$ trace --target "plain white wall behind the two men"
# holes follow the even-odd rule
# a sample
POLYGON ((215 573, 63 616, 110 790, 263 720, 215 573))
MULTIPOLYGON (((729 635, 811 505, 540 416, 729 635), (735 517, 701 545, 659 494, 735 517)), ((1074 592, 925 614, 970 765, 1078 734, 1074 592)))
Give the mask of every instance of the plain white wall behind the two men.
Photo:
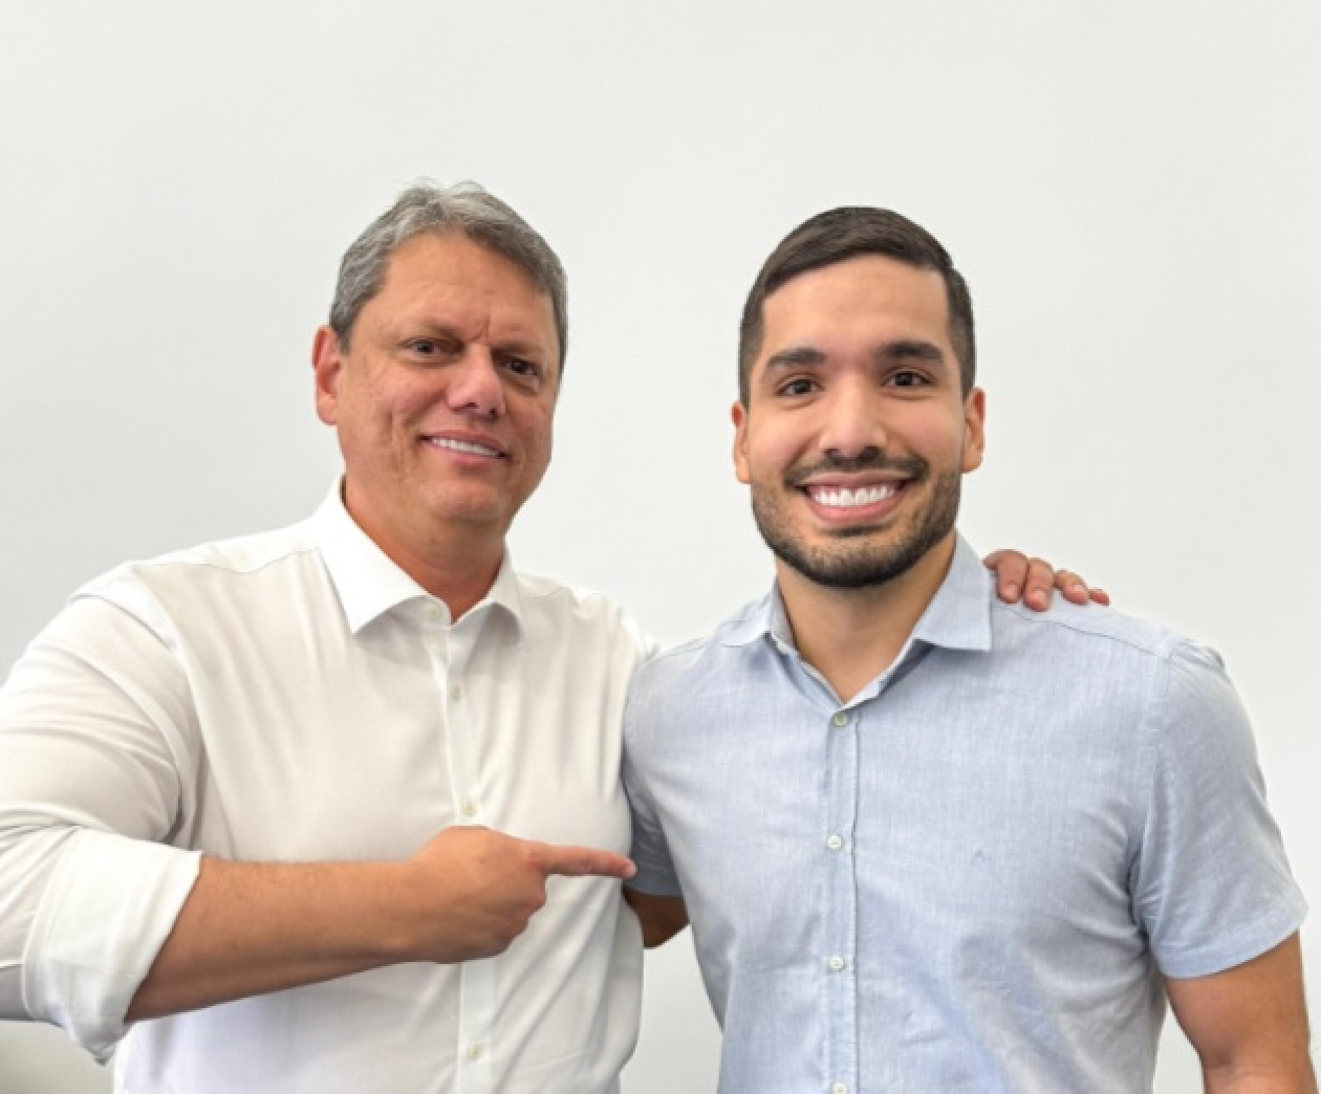
MULTIPOLYGON (((310 334, 417 176, 569 270, 520 564, 704 630, 770 572, 728 460, 742 295, 808 214, 889 205, 979 305, 964 531, 1222 650, 1316 900, 1318 57, 1309 0, 0 0, 0 671, 94 573, 320 499, 310 334)), ((671 950, 629 1094, 713 1089, 671 950)), ((1199 1089, 1177 1033, 1157 1086, 1199 1089)), ((0 1025, 5 1094, 104 1089, 0 1025)))

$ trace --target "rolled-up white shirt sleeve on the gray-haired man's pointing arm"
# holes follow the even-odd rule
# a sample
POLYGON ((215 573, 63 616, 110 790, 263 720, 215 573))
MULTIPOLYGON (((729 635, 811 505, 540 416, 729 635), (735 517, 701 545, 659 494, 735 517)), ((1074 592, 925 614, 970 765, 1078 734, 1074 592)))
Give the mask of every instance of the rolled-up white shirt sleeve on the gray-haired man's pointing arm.
POLYGON ((103 591, 119 602, 70 601, 0 690, 0 1019, 98 1058, 199 863, 170 846, 198 764, 186 671, 140 587, 103 591))

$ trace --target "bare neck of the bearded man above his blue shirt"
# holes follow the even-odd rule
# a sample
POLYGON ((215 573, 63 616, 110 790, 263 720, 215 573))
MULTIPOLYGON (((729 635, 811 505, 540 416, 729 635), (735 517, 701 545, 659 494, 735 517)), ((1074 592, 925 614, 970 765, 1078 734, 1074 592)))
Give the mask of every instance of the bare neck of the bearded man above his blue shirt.
POLYGON ((898 577, 860 589, 819 585, 777 560, 798 653, 848 702, 898 658, 952 558, 951 531, 898 577))

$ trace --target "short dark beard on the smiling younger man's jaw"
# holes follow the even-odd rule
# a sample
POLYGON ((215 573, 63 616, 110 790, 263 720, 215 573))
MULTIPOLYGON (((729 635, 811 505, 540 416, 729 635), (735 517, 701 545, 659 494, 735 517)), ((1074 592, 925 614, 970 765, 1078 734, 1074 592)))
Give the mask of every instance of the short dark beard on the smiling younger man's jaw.
MULTIPOLYGON (((930 470, 925 464, 923 472, 905 489, 926 481, 930 470)), ((752 489, 752 514, 766 546, 808 581, 831 589, 863 589, 884 585, 906 573, 950 534, 959 515, 962 485, 963 476, 958 472, 935 476, 927 506, 913 517, 908 529, 896 529, 897 538, 886 543, 869 542, 872 536, 885 536, 885 532, 849 529, 840 531, 832 543, 810 546, 794 532, 779 498, 756 485, 752 489)), ((786 489, 798 488, 786 482, 786 489)))

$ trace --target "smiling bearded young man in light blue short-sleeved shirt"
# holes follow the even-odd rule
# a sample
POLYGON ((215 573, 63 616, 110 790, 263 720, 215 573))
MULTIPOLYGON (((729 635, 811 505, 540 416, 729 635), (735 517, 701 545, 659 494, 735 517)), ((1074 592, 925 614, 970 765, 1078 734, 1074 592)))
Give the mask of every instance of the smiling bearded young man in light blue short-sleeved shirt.
POLYGON ((1305 913, 1218 657, 995 600, 945 248, 836 209, 742 317, 734 464, 774 589, 634 676, 650 941, 691 917, 723 1094, 1148 1090, 1166 996, 1207 1090, 1310 1091, 1305 913))

